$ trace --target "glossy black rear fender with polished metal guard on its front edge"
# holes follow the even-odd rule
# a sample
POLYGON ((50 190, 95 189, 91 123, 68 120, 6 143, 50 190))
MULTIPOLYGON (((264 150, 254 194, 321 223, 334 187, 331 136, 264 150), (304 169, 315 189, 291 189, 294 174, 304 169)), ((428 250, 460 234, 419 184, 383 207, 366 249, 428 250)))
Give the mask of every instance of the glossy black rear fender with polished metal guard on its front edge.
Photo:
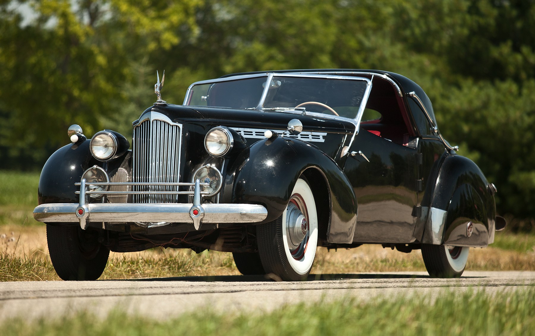
POLYGON ((494 240, 496 207, 483 172, 470 159, 449 155, 432 190, 423 243, 485 247, 494 240), (473 232, 468 236, 467 225, 473 232))

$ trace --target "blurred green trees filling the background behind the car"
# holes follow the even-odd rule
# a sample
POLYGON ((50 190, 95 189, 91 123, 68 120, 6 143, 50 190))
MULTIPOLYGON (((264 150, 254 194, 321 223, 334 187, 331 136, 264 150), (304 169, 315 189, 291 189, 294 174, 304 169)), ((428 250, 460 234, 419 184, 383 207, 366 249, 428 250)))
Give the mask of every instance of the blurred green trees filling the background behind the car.
MULTIPOLYGON (((164 97, 232 72, 378 68, 535 225, 534 0, 0 0, 0 169, 39 170, 69 125, 131 134, 164 97)), ((529 223, 532 223, 531 225, 529 223)))

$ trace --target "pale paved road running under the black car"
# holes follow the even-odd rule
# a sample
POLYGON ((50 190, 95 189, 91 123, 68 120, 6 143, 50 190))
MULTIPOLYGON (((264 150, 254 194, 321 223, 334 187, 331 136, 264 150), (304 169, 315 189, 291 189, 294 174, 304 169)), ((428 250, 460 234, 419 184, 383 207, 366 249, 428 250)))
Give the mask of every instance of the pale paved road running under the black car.
POLYGON ((181 277, 103 281, 0 282, 0 319, 59 316, 87 309, 105 316, 113 307, 154 318, 194 308, 269 311, 285 303, 378 295, 455 295, 473 287, 492 294, 535 285, 535 272, 464 272, 461 279, 431 279, 425 272, 323 274, 303 282, 261 276, 181 277))

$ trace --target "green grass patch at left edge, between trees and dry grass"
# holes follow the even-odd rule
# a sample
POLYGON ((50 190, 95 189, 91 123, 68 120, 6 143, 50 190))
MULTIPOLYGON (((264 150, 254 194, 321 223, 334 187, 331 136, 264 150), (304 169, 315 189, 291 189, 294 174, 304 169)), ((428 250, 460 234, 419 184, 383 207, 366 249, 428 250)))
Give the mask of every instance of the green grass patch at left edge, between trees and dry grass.
POLYGON ((38 172, 0 171, 0 225, 36 224, 38 172))

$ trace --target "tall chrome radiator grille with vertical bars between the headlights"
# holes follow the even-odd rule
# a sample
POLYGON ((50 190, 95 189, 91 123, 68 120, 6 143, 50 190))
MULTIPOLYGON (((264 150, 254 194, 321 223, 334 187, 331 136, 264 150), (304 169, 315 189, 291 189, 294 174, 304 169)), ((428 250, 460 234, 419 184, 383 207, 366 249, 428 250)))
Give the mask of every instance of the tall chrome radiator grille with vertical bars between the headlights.
MULTIPOLYGON (((182 125, 158 112, 144 115, 134 126, 132 139, 133 182, 177 183, 180 180, 182 125)), ((134 186, 135 191, 179 191, 178 186, 134 186)), ((134 195, 134 203, 178 203, 178 195, 134 195)))

